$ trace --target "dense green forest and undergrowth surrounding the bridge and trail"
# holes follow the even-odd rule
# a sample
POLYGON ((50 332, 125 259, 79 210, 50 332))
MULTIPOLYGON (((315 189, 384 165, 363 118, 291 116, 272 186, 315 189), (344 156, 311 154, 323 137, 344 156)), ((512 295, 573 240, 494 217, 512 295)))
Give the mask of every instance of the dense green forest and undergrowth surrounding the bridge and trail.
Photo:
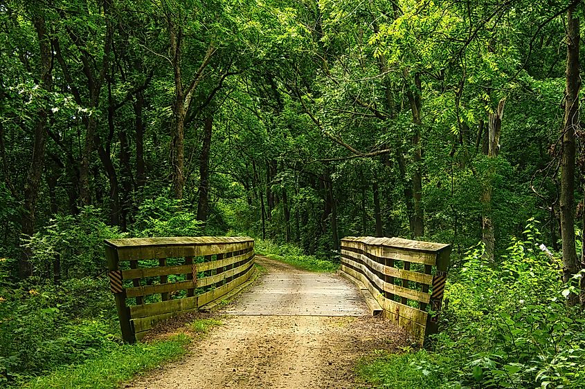
POLYGON ((183 352, 123 344, 104 239, 247 234, 333 268, 345 236, 453 246, 433 350, 364 361, 366 381, 585 388, 584 17, 0 1, 0 386, 114 388, 183 352), (139 368, 114 372, 122 350, 139 368))

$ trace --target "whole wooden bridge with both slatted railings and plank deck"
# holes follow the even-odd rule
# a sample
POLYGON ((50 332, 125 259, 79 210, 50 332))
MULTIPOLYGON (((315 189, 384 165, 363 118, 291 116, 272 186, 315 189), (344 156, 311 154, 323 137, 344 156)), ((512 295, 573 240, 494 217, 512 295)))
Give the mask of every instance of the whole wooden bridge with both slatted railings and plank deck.
MULTIPOLYGON (((263 258, 273 271, 222 312, 382 314, 422 344, 437 331, 450 251, 449 245, 399 238, 344 238, 339 274, 279 272, 283 265, 263 258)), ((255 263, 248 237, 107 240, 106 252, 123 339, 129 343, 181 312, 219 305, 249 282, 255 263)))

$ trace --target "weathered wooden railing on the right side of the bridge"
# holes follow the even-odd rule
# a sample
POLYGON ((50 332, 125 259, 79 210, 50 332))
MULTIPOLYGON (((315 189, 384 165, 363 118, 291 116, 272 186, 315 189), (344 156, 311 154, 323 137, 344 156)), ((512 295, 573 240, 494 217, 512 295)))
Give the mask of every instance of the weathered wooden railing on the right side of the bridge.
POLYGON ((384 316, 423 345, 438 331, 450 254, 451 246, 439 243, 348 237, 341 240, 341 270, 361 281, 384 316))

